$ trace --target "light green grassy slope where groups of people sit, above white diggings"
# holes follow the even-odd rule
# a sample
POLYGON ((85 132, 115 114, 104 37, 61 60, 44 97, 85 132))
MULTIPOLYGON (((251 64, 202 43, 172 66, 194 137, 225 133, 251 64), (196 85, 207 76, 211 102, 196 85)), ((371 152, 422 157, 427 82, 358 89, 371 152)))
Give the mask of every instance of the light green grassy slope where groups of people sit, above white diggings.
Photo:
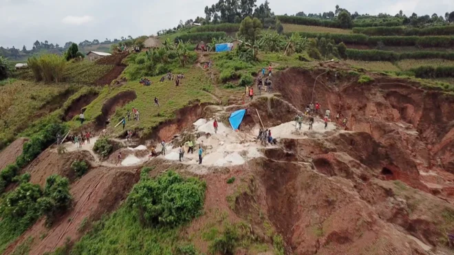
MULTIPOLYGON (((109 127, 113 128, 120 121, 120 118, 126 115, 127 109, 131 111, 132 107, 135 107, 140 111, 140 122, 127 122, 126 129, 144 129, 145 133, 151 132, 161 122, 174 118, 174 112, 177 109, 186 107, 189 102, 195 102, 196 100, 210 102, 213 100, 213 97, 204 91, 204 88, 209 88, 212 83, 202 69, 177 69, 174 72, 175 74, 179 72, 185 74, 180 87, 175 87, 173 80, 159 82, 160 76, 150 78, 152 81, 151 86, 142 86, 138 80, 133 80, 115 89, 104 87, 100 91, 98 98, 86 107, 85 120, 87 122, 95 120, 101 114, 102 104, 105 100, 116 96, 122 91, 136 91, 137 98, 126 104, 125 107, 116 109, 116 113, 111 116, 112 122, 109 127), (152 103, 155 97, 159 99, 160 107, 155 107, 152 103)), ((70 126, 77 127, 80 126, 80 123, 72 121, 70 126)), ((122 131, 122 126, 118 126, 117 130, 122 131)))

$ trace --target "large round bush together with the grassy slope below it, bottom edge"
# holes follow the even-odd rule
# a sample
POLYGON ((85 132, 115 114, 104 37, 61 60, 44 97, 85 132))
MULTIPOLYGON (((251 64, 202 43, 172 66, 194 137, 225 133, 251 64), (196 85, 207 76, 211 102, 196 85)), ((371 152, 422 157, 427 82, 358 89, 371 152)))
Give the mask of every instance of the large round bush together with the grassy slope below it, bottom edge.
POLYGON ((197 254, 179 233, 200 213, 204 191, 202 181, 172 171, 155 179, 142 175, 127 203, 95 223, 71 254, 197 254))

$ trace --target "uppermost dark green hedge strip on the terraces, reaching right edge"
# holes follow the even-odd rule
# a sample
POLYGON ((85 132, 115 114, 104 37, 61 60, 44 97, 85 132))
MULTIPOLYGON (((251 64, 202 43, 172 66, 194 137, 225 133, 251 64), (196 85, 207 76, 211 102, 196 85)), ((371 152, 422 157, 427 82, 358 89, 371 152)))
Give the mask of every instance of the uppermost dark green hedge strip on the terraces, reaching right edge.
POLYGON ((447 36, 454 34, 454 25, 437 27, 354 27, 355 34, 368 36, 447 36))

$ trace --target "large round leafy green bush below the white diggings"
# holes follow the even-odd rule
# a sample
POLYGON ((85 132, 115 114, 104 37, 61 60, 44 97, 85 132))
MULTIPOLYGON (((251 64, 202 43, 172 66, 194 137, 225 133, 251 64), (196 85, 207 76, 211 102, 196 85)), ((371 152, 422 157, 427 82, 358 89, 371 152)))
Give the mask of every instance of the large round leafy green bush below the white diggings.
POLYGON ((128 204, 143 223, 152 227, 176 227, 202 210, 206 185, 169 171, 155 179, 143 179, 133 187, 128 204))

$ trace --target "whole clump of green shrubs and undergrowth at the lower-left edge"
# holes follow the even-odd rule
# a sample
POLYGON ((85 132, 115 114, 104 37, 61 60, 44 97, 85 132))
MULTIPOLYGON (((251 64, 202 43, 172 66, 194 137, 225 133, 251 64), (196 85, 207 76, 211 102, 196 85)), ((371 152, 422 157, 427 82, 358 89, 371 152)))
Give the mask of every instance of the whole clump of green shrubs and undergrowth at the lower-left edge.
POLYGON ((58 175, 47 177, 44 192, 39 185, 30 183, 22 183, 8 192, 0 203, 0 252, 41 215, 45 214, 52 222, 68 208, 71 200, 67 179, 58 175))

